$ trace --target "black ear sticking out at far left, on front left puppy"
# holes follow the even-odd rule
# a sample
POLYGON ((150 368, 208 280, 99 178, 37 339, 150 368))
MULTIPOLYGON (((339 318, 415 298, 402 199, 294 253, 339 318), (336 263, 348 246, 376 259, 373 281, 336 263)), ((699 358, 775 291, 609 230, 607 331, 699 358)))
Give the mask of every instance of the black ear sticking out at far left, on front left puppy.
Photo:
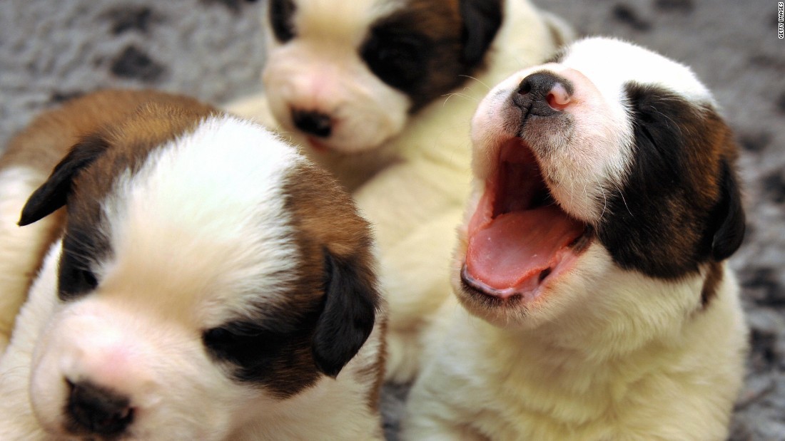
POLYGON ((35 190, 22 208, 19 226, 26 226, 52 214, 65 205, 75 176, 106 150, 108 144, 99 136, 88 136, 71 147, 49 179, 35 190))

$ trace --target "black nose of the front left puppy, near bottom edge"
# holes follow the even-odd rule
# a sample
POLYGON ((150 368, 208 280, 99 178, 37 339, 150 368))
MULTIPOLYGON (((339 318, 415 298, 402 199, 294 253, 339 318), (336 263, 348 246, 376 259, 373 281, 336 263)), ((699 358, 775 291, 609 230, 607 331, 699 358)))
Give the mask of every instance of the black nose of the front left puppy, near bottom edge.
POLYGON ((130 400, 89 382, 71 383, 68 414, 79 432, 117 436, 133 421, 130 400))

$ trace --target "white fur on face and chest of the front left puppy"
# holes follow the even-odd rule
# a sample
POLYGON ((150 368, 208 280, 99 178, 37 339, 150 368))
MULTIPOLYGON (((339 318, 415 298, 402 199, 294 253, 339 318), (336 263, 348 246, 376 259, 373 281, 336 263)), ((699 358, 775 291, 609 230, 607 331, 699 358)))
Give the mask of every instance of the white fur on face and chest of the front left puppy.
POLYGON ((381 436, 373 385, 357 380, 379 326, 337 379, 285 400, 232 381, 203 347, 202 332, 249 314, 251 296, 280 307, 298 262, 283 176, 299 161, 265 129, 214 117, 120 178, 96 232, 111 239, 92 264, 97 290, 57 300, 59 241, 35 280, 0 360, 0 439, 60 439, 64 378, 131 397, 122 439, 381 436))

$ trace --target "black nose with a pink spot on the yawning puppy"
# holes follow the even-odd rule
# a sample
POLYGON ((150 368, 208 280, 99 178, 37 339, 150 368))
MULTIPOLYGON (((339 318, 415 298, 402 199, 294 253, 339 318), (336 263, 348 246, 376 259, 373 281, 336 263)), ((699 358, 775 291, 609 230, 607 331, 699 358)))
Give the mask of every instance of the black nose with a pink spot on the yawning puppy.
POLYGON ((528 114, 553 116, 570 103, 570 81, 548 71, 535 72, 520 81, 513 103, 528 114))

